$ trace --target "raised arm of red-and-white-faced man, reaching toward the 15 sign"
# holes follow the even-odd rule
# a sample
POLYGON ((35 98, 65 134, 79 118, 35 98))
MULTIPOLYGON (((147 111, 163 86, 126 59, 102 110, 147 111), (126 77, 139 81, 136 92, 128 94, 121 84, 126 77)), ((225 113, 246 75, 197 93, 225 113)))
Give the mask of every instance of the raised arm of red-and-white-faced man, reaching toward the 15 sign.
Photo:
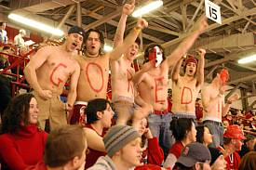
POLYGON ((190 33, 182 43, 168 56, 167 62, 168 67, 172 67, 175 62, 184 56, 189 48, 193 46, 196 38, 203 33, 208 27, 208 22, 206 18, 201 18, 196 24, 195 29, 192 33, 190 33))

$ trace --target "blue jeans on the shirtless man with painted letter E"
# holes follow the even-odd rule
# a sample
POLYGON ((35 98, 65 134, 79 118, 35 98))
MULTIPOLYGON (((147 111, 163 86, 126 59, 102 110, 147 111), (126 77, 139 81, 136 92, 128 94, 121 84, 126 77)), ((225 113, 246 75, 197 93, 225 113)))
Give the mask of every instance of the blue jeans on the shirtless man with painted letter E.
POLYGON ((171 122, 171 114, 157 115, 151 113, 148 116, 148 124, 151 133, 157 137, 161 148, 164 150, 165 156, 168 155, 168 149, 174 143, 174 138, 169 130, 169 123, 171 122))

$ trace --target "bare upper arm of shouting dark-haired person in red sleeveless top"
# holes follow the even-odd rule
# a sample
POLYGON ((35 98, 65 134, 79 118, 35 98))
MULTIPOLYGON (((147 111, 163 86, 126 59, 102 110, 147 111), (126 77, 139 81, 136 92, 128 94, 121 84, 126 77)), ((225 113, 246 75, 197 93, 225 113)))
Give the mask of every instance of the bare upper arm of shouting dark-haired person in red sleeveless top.
POLYGON ((106 151, 103 143, 103 138, 92 129, 89 129, 87 127, 84 129, 87 135, 88 148, 91 148, 93 150, 106 151))

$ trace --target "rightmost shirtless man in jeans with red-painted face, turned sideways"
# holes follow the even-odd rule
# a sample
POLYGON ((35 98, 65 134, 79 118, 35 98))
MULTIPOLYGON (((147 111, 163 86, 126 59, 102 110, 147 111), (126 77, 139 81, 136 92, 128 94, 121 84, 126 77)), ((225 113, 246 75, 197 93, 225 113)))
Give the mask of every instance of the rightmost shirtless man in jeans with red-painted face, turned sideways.
POLYGON ((227 114, 232 102, 239 98, 239 95, 235 93, 227 98, 225 103, 224 92, 228 80, 228 71, 223 67, 218 67, 212 73, 211 83, 202 88, 203 123, 214 136, 213 142, 210 144, 210 147, 213 148, 223 144, 222 116, 227 114))

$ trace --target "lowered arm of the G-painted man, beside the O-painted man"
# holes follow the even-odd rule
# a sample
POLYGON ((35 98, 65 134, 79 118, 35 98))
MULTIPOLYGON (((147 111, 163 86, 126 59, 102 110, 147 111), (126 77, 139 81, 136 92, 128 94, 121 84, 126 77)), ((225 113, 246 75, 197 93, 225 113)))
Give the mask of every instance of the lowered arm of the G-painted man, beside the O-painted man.
POLYGON ((76 87, 77 87, 77 82, 78 78, 80 75, 80 66, 79 64, 75 61, 75 70, 74 73, 71 75, 71 82, 70 82, 70 89, 67 97, 67 110, 71 111, 72 107, 74 105, 74 101, 76 99, 76 87))

